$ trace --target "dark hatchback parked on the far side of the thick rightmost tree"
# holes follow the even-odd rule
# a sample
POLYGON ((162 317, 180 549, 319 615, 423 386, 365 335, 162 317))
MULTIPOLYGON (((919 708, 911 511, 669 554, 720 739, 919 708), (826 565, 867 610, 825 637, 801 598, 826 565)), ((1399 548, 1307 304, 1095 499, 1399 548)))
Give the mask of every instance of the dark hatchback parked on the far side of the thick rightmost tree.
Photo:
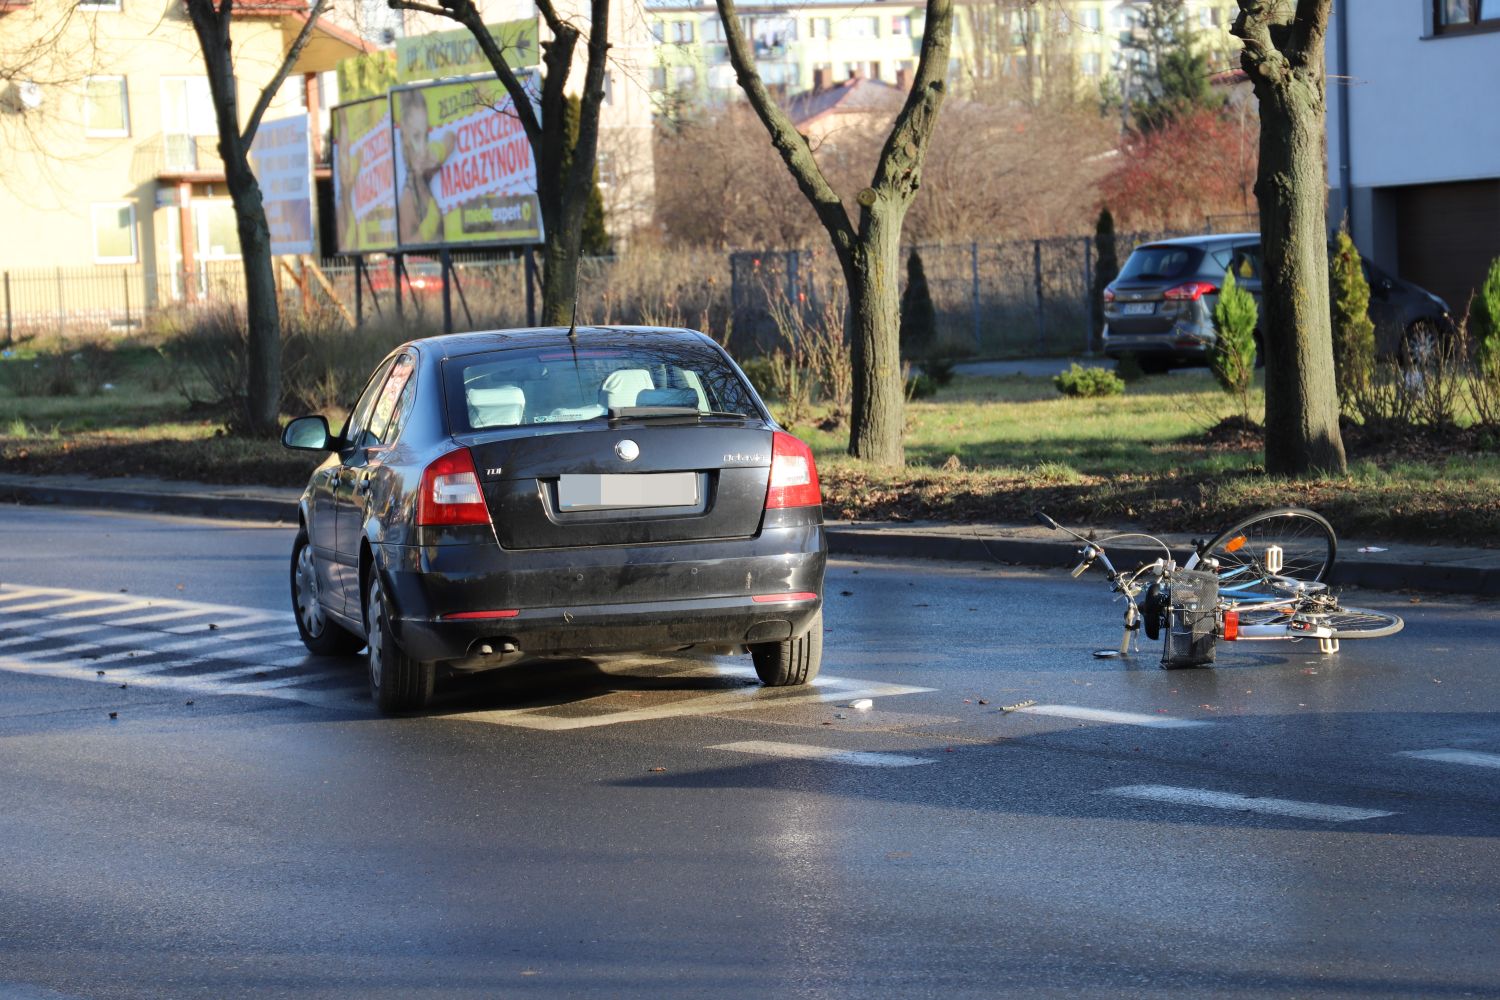
MULTIPOLYGON (((1104 289, 1104 354, 1134 354, 1146 372, 1206 364, 1214 349, 1214 306, 1224 273, 1260 304, 1260 234, 1232 232, 1143 243, 1104 289)), ((1364 261, 1376 351, 1396 355, 1446 337, 1454 321, 1437 295, 1364 261)), ((1258 334, 1257 334, 1258 340, 1258 334)))

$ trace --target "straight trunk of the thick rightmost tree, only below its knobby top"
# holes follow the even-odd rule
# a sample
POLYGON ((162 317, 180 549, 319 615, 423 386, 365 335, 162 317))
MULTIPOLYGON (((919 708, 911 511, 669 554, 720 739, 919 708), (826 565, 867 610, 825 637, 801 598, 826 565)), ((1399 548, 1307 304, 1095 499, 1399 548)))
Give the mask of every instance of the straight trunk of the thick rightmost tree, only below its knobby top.
MULTIPOLYGON (((1269 90, 1269 88, 1268 88, 1269 90)), ((1324 105, 1296 76, 1260 102, 1266 471, 1344 471, 1328 312, 1324 105)))

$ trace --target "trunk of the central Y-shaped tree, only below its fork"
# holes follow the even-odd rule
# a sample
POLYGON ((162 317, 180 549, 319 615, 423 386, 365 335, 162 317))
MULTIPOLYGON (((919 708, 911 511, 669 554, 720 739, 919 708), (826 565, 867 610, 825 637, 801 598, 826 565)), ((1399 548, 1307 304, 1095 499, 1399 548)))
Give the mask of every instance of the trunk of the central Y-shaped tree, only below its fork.
POLYGON ((849 286, 854 406, 849 454, 900 466, 906 385, 902 379, 902 217, 904 205, 876 202, 861 213, 861 235, 844 262, 849 286))

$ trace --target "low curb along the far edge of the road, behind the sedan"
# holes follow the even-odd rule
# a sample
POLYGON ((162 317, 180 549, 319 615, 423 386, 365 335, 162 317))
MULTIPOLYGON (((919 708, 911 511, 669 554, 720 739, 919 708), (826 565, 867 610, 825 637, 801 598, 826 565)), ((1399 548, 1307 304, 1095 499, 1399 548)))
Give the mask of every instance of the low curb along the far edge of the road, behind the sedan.
MULTIPOLYGON (((297 499, 290 495, 276 498, 236 492, 144 490, 132 489, 128 484, 106 487, 80 483, 21 483, 8 477, 0 481, 0 501, 297 523, 297 499)), ((1077 561, 1077 544, 1071 541, 981 531, 963 532, 951 525, 933 531, 884 523, 830 523, 826 531, 828 552, 834 556, 987 562, 1044 570, 1070 568, 1077 561)), ((1118 565, 1136 565, 1155 559, 1161 550, 1122 544, 1110 546, 1110 555, 1118 565)), ((1474 559, 1474 562, 1479 561, 1474 559)), ((1338 586, 1364 586, 1382 591, 1416 589, 1500 597, 1500 567, 1466 565, 1461 561, 1404 562, 1364 555, 1341 555, 1334 567, 1330 582, 1338 586)))

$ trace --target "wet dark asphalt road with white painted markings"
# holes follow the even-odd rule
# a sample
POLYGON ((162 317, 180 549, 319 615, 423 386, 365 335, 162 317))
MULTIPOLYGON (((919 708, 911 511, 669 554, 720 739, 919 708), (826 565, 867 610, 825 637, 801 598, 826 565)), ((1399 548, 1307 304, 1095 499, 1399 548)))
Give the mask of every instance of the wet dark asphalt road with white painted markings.
POLYGON ((1164 672, 1062 568, 837 562, 813 691, 386 720, 290 544, 0 510, 0 1000, 1500 996, 1494 603, 1164 672))

